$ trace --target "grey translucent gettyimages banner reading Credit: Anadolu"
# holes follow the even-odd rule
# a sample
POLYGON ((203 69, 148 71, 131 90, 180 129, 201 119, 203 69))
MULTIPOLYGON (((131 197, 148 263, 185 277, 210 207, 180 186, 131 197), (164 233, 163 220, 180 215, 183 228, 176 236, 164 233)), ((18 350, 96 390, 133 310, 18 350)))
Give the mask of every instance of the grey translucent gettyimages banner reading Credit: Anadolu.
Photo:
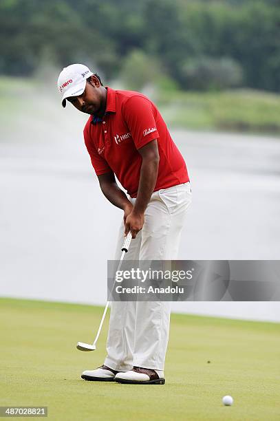
POLYGON ((280 301, 280 261, 108 261, 108 301, 280 301))

